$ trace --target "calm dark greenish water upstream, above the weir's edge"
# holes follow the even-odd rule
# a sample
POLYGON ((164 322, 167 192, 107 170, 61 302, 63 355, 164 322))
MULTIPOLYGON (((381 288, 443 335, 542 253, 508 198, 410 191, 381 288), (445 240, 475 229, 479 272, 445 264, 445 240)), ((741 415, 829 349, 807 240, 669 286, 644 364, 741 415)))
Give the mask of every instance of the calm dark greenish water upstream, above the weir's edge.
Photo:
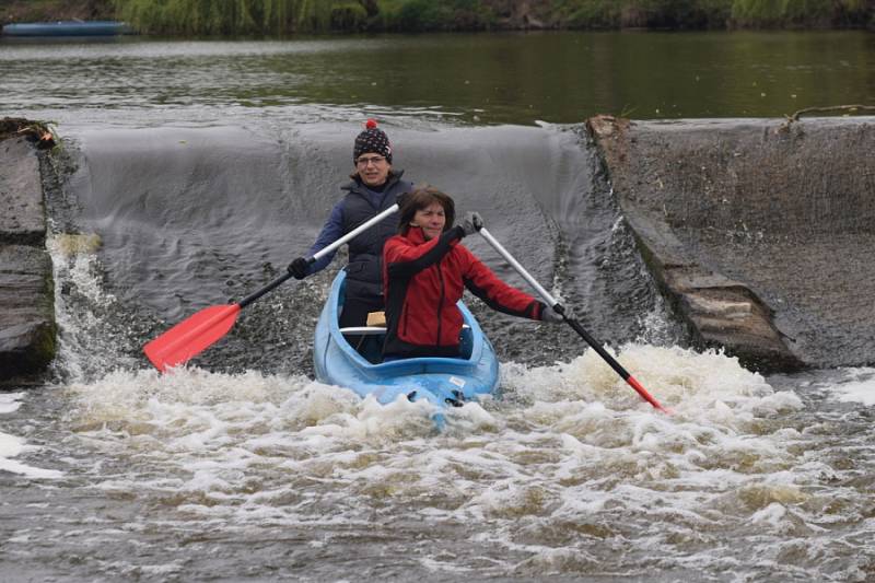
POLYGON ((362 109, 465 124, 782 117, 875 94, 875 37, 860 31, 7 40, 0 65, 4 114, 59 121, 83 121, 79 108, 128 123, 362 109))

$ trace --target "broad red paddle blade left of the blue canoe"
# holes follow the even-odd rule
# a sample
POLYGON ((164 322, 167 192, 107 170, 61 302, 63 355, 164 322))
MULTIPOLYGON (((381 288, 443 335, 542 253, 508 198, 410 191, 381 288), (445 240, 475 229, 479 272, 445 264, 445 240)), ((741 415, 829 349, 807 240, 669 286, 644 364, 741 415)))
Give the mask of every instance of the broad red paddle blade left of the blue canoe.
POLYGON ((238 313, 240 304, 203 308, 145 345, 143 352, 161 372, 185 364, 228 334, 238 313))

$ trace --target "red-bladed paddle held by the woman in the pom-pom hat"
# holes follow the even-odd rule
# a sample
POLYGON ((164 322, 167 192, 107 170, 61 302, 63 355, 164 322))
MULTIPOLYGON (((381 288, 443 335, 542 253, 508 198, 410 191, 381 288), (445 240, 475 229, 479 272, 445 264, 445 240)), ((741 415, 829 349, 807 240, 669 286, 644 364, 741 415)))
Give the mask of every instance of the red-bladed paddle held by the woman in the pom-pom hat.
MULTIPOLYGON (((319 250, 313 257, 308 257, 307 263, 313 264, 319 260, 397 211, 398 205, 393 205, 319 250)), ((240 314, 241 310, 272 291, 291 277, 292 273, 282 275, 257 292, 243 299, 240 303, 205 307, 147 343, 143 347, 143 352, 161 372, 185 364, 228 334, 228 330, 237 320, 237 314, 240 314)))

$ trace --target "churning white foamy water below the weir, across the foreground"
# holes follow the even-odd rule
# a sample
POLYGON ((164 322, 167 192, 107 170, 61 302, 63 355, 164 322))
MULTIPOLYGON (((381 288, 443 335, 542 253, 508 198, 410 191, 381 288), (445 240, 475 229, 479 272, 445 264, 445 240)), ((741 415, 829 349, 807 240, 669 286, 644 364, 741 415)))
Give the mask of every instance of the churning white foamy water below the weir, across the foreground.
MULTIPOLYGON (((100 266, 89 250, 67 260, 66 299, 91 306, 75 329, 106 326, 93 314, 117 302, 95 283, 100 266)), ((872 460, 842 453, 860 439, 837 438, 847 411, 810 409, 826 398, 817 383, 777 389, 733 358, 677 347, 635 342, 615 357, 672 416, 591 350, 502 364, 501 394, 450 409, 441 433, 425 403, 382 406, 301 374, 82 374, 28 404, 44 422, 25 412, 12 424, 21 438, 0 435, 3 469, 66 492, 19 494, 8 561, 57 568, 61 549, 82 576, 156 580, 242 569, 315 580, 871 575, 861 476, 872 460)), ((868 380, 848 373, 849 386, 868 380)))

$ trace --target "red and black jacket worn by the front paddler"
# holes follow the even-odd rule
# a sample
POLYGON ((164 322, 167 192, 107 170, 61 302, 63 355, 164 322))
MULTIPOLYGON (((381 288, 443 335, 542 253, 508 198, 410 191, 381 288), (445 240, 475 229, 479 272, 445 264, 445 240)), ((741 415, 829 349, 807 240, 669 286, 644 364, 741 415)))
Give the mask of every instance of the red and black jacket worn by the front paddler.
POLYGON ((459 240, 460 226, 425 241, 422 229, 395 235, 383 247, 386 342, 394 357, 457 357, 465 288, 490 307, 540 319, 545 304, 501 281, 459 240))

